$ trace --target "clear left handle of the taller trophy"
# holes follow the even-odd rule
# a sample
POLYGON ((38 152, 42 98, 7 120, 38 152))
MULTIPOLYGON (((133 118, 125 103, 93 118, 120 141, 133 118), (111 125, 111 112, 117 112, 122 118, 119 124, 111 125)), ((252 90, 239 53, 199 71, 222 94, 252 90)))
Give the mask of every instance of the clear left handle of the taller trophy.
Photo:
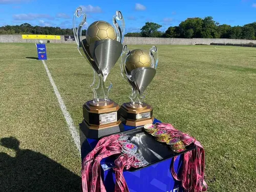
POLYGON ((79 50, 80 42, 81 42, 80 38, 82 36, 82 27, 83 27, 84 24, 86 24, 86 13, 82 12, 81 7, 78 7, 76 9, 75 13, 74 13, 74 16, 73 16, 73 32, 74 32, 76 44, 78 46, 78 50, 79 50), (77 28, 76 27, 76 19, 79 18, 80 16, 83 16, 83 18, 82 18, 82 21, 81 21, 81 23, 79 24, 79 26, 77 28))

